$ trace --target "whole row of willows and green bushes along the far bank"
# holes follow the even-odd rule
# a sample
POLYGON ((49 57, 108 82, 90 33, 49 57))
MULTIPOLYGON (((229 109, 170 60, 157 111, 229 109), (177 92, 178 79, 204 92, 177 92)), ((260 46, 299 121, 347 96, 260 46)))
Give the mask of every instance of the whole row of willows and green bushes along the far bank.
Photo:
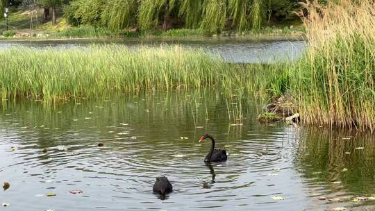
POLYGON ((162 23, 165 28, 173 19, 178 26, 218 33, 228 29, 258 30, 267 22, 296 17, 298 1, 301 0, 72 0, 65 8, 65 17, 71 24, 101 25, 112 31, 128 26, 147 31, 162 23))

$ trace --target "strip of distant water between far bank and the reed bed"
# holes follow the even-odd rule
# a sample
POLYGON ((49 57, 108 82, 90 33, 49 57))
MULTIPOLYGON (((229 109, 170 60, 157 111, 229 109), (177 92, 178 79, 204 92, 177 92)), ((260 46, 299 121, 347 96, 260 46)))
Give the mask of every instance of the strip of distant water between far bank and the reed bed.
POLYGON ((215 53, 227 62, 275 62, 295 60, 306 48, 306 42, 300 40, 248 40, 238 38, 211 38, 197 40, 47 40, 47 41, 2 41, 0 49, 24 46, 43 49, 53 47, 66 49, 88 47, 90 44, 119 44, 130 49, 140 46, 158 47, 160 45, 179 44, 183 47, 204 49, 215 53))

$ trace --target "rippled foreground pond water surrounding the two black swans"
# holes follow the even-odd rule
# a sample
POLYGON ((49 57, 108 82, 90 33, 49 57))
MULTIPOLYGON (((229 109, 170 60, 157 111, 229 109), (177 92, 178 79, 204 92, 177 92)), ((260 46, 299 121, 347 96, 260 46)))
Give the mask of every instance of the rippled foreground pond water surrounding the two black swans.
POLYGON ((351 202, 375 194, 372 135, 260 124, 258 112, 255 101, 208 91, 3 101, 0 183, 10 188, 0 203, 11 204, 4 210, 375 209, 375 201, 351 202), (233 121, 240 108, 242 121, 233 121), (204 133, 228 151, 227 162, 204 164, 204 133), (160 200, 152 185, 163 175, 174 192, 160 200))

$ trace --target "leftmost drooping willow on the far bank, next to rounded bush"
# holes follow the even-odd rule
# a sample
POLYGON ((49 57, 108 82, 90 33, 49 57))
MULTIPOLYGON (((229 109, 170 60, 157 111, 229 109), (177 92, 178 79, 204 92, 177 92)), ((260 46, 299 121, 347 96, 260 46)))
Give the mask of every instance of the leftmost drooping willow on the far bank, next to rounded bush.
POLYGON ((101 22, 112 31, 121 31, 135 22, 137 0, 111 0, 101 13, 101 22))

